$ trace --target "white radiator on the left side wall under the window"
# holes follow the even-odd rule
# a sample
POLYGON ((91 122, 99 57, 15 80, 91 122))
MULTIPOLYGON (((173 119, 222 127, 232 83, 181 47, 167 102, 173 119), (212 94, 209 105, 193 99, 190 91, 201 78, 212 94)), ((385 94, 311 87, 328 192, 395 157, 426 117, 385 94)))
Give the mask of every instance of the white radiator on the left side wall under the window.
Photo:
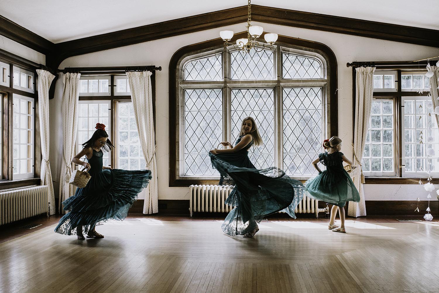
POLYGON ((0 192, 0 225, 48 212, 47 185, 0 192))

